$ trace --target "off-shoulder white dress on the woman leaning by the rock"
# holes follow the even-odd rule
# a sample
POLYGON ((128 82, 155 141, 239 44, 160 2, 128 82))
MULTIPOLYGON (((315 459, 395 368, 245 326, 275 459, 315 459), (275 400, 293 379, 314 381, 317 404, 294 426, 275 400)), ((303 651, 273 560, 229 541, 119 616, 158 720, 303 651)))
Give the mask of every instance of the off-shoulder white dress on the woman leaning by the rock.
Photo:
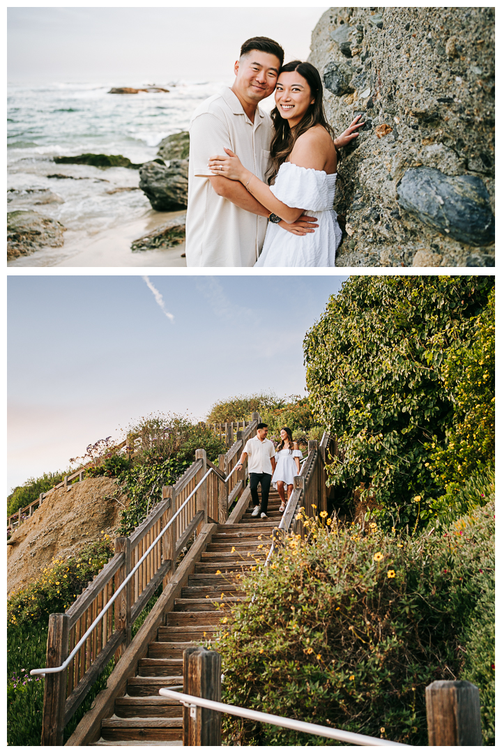
POLYGON ((342 230, 333 210, 336 172, 281 164, 270 191, 283 204, 304 209, 317 218, 315 233, 295 236, 269 222, 263 250, 255 267, 334 267, 335 253, 342 240, 342 230))

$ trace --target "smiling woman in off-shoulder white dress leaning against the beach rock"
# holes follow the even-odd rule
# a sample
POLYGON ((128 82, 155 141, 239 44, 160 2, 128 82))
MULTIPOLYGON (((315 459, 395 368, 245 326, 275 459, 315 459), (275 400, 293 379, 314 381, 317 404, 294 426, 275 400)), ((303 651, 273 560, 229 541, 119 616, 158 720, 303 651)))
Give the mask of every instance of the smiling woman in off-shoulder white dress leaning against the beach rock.
MULTIPOLYGON (((224 175, 243 185, 266 209, 269 227, 255 267, 334 267, 342 231, 333 211, 336 182, 336 148, 327 123, 318 70, 309 62, 282 66, 270 113, 275 135, 270 157, 275 183, 263 183, 242 166, 239 157, 211 157, 214 175, 224 175), (318 227, 306 235, 292 235, 278 227, 301 215, 317 218, 318 227)), ((357 123, 357 127, 362 123, 357 123)), ((352 123, 352 127, 354 122, 352 123)))

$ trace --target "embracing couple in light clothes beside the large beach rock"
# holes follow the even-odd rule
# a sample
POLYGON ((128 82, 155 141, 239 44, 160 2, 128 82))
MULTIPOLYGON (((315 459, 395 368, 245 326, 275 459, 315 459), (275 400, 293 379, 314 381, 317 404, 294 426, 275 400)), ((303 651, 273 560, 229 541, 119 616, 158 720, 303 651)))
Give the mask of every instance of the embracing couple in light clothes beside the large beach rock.
POLYGON ((318 70, 283 65, 272 39, 245 41, 232 87, 190 122, 187 267, 333 267, 342 238, 333 211, 336 147, 318 70), (259 102, 275 90, 275 108, 259 102))

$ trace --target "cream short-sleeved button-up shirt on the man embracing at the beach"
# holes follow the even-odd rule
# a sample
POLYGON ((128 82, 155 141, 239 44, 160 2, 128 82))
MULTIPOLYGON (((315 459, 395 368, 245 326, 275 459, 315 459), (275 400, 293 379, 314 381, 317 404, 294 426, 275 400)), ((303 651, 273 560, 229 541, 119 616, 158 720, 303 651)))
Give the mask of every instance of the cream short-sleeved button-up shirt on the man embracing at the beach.
POLYGON ((202 102, 190 121, 187 267, 253 267, 265 239, 267 218, 218 196, 208 179, 209 157, 231 149, 248 170, 266 181, 272 120, 256 109, 251 123, 229 87, 202 102))

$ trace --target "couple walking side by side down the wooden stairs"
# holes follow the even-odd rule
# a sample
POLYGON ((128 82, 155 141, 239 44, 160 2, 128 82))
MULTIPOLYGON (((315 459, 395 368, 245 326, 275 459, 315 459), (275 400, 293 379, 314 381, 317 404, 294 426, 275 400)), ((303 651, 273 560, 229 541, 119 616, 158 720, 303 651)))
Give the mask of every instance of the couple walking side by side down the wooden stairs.
POLYGON ((266 423, 259 423, 256 435, 249 439, 242 450, 242 455, 236 468, 242 468, 248 457, 249 490, 254 509, 252 517, 266 518, 269 504, 270 484, 277 484, 277 491, 281 498, 279 512, 286 509, 286 492, 288 499, 293 492, 294 477, 300 475, 301 450, 293 441, 291 428, 281 428, 281 442, 275 450, 273 442, 266 438, 269 428, 266 423), (258 484, 261 486, 261 504, 258 497, 258 484))

